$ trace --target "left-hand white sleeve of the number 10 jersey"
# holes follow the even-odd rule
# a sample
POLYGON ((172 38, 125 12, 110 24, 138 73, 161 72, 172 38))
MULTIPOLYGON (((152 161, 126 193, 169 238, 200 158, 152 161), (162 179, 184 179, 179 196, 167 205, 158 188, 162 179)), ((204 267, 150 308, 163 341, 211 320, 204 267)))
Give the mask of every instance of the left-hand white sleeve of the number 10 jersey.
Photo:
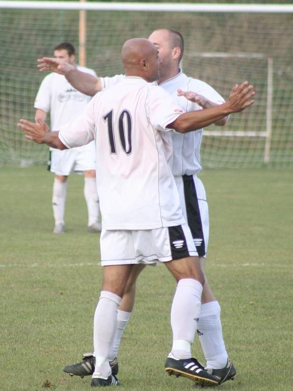
POLYGON ((80 114, 59 129, 59 138, 67 148, 81 147, 94 141, 95 101, 96 97, 87 103, 80 114))

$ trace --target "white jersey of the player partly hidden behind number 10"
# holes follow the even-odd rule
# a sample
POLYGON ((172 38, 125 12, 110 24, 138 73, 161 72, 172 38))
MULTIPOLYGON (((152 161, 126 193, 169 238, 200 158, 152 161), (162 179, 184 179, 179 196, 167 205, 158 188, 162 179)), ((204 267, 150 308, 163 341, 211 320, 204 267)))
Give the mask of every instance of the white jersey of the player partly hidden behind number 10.
MULTIPOLYGON (((115 83, 122 81, 123 75, 101 78, 103 88, 108 88, 115 83)), ((223 97, 211 86, 201 80, 186 76, 181 70, 175 77, 163 81, 160 84, 173 100, 181 106, 184 113, 193 110, 200 110, 196 103, 190 102, 183 96, 177 95, 177 90, 196 92, 214 103, 225 102, 223 97)), ((170 132, 173 143, 173 156, 170 160, 171 170, 174 176, 198 174, 202 170, 200 165, 200 146, 203 129, 198 129, 191 133, 170 132)))

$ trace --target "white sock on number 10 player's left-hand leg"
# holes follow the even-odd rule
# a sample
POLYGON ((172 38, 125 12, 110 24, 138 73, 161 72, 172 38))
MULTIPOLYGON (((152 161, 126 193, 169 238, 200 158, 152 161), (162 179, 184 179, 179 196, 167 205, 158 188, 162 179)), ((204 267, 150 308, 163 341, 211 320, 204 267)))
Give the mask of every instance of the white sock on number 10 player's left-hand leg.
POLYGON ((117 324, 117 310, 121 297, 112 292, 101 291, 94 317, 94 356, 96 357, 95 372, 108 377, 111 374, 109 366, 110 353, 117 324))

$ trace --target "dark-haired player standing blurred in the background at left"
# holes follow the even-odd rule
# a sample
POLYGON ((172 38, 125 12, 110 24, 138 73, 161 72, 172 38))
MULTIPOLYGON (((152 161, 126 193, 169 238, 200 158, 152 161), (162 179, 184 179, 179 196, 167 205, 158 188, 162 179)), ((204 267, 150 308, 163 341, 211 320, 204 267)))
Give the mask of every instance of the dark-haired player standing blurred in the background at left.
MULTIPOLYGON (((67 62, 79 71, 95 75, 92 69, 76 66, 75 49, 70 43, 63 42, 55 46, 54 57, 67 62)), ((90 96, 86 96, 73 88, 63 75, 51 73, 43 79, 38 91, 35 100, 35 121, 45 121, 47 114, 50 112, 51 129, 58 129, 78 114, 90 100, 90 96)), ((98 221, 100 207, 95 166, 94 143, 70 151, 50 149, 48 169, 55 174, 52 196, 55 220, 54 234, 65 232, 64 212, 67 177, 73 171, 83 172, 84 175, 84 198, 89 215, 87 229, 90 232, 101 231, 101 223, 98 221)))

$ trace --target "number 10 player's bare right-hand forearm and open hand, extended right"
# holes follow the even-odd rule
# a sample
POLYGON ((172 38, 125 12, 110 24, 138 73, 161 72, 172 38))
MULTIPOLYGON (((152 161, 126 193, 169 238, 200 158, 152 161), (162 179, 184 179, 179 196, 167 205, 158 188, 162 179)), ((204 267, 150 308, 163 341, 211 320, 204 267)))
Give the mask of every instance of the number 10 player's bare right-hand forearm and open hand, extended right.
POLYGON ((181 114, 167 127, 180 133, 187 133, 209 126, 229 114, 238 113, 251 106, 254 103, 254 100, 251 98, 255 95, 255 92, 252 90, 253 87, 249 85, 248 81, 244 81, 240 86, 236 85, 233 87, 225 103, 216 107, 181 114))

